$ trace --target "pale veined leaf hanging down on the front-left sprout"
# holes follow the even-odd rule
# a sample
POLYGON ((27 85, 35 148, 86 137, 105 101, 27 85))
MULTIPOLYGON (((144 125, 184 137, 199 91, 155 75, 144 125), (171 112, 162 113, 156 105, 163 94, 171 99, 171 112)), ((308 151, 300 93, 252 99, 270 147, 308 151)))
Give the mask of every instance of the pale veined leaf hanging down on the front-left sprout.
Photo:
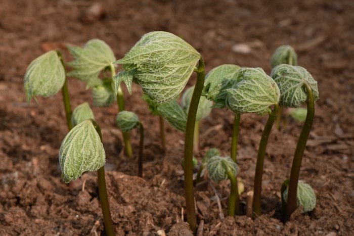
POLYGON ((105 165, 106 154, 91 120, 85 120, 65 136, 59 150, 62 179, 68 183, 85 171, 96 171, 105 165))

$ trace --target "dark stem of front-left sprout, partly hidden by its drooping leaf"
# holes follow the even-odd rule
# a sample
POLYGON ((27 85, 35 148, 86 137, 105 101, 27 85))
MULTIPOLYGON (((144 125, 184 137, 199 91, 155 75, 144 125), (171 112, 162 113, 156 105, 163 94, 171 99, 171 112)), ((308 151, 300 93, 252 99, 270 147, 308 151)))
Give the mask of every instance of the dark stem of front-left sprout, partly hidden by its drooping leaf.
MULTIPOLYGON (((91 119, 91 122, 93 123, 97 133, 100 136, 101 143, 102 143, 102 132, 100 126, 97 124, 97 122, 93 119, 91 119)), ((101 202, 101 208, 102 208, 102 214, 103 214, 103 222, 105 224, 105 230, 106 234, 108 236, 114 236, 114 227, 113 227, 113 222, 111 218, 111 212, 109 209, 109 202, 108 202, 108 197, 107 197, 107 188, 106 188, 106 178, 105 178, 105 166, 102 166, 100 169, 97 170, 97 181, 98 181, 98 191, 100 195, 100 202, 101 202)))

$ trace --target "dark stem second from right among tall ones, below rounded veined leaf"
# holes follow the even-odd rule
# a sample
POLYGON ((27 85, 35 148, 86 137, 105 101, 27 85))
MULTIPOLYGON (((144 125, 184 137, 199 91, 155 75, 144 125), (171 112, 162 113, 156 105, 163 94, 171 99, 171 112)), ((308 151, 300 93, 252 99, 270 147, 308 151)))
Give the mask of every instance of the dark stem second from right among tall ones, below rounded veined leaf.
POLYGON ((267 123, 264 126, 262 136, 259 142, 256 170, 254 174, 254 187, 253 187, 253 215, 259 216, 261 214, 260 207, 260 196, 262 191, 262 175, 263 175, 263 165, 264 165, 264 155, 265 149, 267 149, 267 142, 269 134, 272 130, 273 123, 277 117, 278 104, 274 105, 272 113, 269 114, 267 123))

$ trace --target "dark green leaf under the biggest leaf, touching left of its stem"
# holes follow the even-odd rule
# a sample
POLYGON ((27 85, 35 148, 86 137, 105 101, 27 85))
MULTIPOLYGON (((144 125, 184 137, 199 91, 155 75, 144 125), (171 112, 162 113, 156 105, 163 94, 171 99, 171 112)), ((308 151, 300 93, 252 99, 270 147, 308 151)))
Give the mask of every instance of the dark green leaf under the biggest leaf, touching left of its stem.
POLYGON ((187 114, 175 100, 159 104, 157 111, 175 129, 182 132, 186 131, 187 114))

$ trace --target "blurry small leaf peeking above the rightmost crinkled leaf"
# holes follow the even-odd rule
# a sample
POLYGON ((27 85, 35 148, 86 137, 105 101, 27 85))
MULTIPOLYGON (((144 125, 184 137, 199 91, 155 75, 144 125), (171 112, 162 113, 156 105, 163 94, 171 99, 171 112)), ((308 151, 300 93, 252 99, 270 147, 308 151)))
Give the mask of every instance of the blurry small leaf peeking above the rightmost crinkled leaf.
POLYGON ((280 64, 297 66, 297 54, 291 46, 282 45, 274 51, 271 57, 272 68, 280 64))

